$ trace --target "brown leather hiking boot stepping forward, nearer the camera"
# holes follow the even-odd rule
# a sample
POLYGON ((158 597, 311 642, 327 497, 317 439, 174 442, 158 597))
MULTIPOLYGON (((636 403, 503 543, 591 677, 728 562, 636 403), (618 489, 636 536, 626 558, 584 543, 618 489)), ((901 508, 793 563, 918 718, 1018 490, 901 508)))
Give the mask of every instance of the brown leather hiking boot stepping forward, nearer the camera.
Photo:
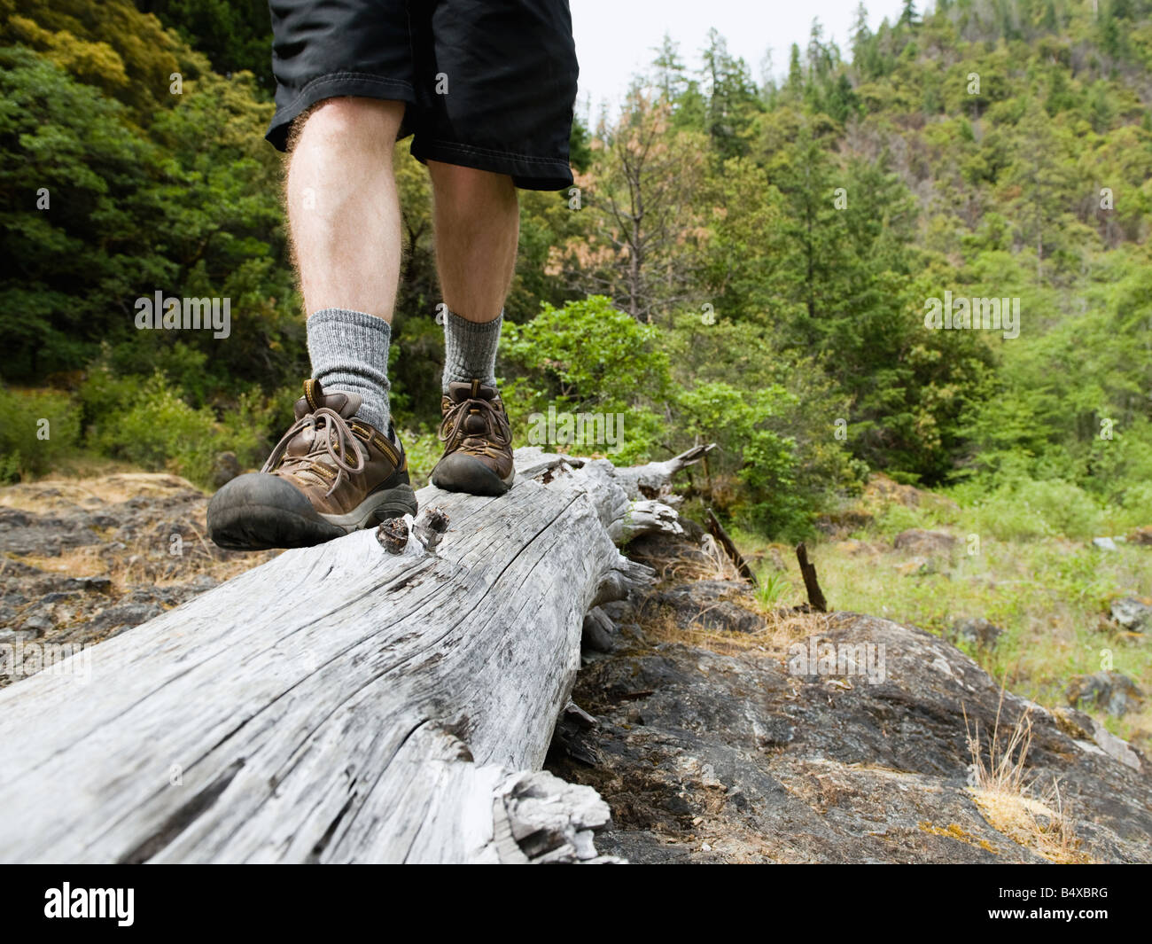
POLYGON ((416 514, 408 460, 388 435, 354 417, 361 398, 304 382, 296 422, 258 473, 232 479, 209 503, 221 547, 310 547, 391 518, 416 514))

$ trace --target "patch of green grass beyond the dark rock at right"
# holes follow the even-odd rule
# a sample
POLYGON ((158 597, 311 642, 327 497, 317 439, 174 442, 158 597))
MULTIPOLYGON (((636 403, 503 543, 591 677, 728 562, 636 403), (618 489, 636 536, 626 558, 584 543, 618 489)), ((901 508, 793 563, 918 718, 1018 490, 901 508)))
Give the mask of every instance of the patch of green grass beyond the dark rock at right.
MULTIPOLYGON (((1091 544, 1086 520, 1104 526, 1098 535, 1123 533, 1107 529, 1107 512, 1090 518, 1083 508, 1061 506, 1039 488, 1031 491, 1039 496, 1037 505, 1047 500, 1077 536, 1066 536, 1034 511, 1032 521, 1020 518, 1010 527, 996 527, 990 514, 1002 499, 963 506, 925 496, 920 507, 872 505, 872 523, 850 535, 869 550, 852 554, 839 541, 809 543, 829 605, 935 634, 943 634, 956 619, 984 617, 1005 630, 995 647, 984 650, 962 641, 960 648, 994 678, 1006 678, 1010 690, 1047 707, 1067 703, 1064 690, 1073 675, 1105 667, 1152 693, 1152 645, 1116 634, 1107 622, 1115 597, 1152 596, 1152 549, 1117 543, 1116 551, 1098 550, 1091 544), (1040 519, 1038 524, 1036 519, 1040 519), (1020 527, 1022 521, 1028 527, 1020 527), (950 533, 957 538, 950 559, 941 560, 935 573, 901 575, 896 568, 910 554, 894 550, 892 542, 907 528, 950 533), (971 543, 970 536, 976 537, 971 543), (970 547, 975 553, 969 553, 970 547)), ((1055 498, 1075 503, 1077 496, 1068 492, 1055 498)), ((869 507, 866 500, 862 504, 869 507)), ((1124 518, 1126 524, 1132 521, 1131 515, 1124 518)), ((745 554, 767 551, 763 539, 748 533, 737 531, 735 537, 745 554)), ((778 550, 787 579, 802 588, 791 549, 778 550)), ((801 589, 791 596, 802 595, 801 589)), ((1142 749, 1152 746, 1152 698, 1123 718, 1092 713, 1142 749)))

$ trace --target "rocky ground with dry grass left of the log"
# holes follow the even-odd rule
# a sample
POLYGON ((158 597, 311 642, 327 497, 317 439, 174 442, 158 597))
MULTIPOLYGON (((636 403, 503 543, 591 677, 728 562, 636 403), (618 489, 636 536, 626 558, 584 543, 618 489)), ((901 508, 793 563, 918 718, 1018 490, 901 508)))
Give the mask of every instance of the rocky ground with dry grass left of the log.
POLYGON ((275 556, 221 551, 206 506, 185 479, 149 473, 0 490, 0 645, 39 658, 99 642, 275 556))

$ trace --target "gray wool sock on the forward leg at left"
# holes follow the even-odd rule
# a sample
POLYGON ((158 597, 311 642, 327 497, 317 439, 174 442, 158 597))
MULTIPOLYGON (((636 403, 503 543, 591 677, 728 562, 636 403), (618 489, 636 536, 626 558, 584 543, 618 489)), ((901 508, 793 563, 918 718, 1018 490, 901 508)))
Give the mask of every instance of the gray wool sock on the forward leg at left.
POLYGON ((325 308, 308 319, 312 376, 325 390, 358 393, 356 415, 388 432, 388 340, 384 318, 344 308, 325 308))

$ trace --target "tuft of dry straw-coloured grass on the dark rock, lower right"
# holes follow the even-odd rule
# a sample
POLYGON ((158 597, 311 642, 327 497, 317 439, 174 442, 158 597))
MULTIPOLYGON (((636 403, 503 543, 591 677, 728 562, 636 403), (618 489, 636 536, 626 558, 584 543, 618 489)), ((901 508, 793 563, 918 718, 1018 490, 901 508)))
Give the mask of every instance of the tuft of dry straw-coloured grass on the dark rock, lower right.
POLYGON ((1091 858, 1081 852, 1075 821, 1060 795, 1059 784, 1054 780, 1047 791, 1037 794, 1036 781, 1028 776, 1028 752, 1032 745, 1030 711, 1025 710, 1005 734, 1000 725, 1003 701, 1001 686, 986 753, 980 741, 979 722, 970 727, 964 711, 975 781, 969 792, 976 806, 993 829, 1049 862, 1091 862, 1091 858))

